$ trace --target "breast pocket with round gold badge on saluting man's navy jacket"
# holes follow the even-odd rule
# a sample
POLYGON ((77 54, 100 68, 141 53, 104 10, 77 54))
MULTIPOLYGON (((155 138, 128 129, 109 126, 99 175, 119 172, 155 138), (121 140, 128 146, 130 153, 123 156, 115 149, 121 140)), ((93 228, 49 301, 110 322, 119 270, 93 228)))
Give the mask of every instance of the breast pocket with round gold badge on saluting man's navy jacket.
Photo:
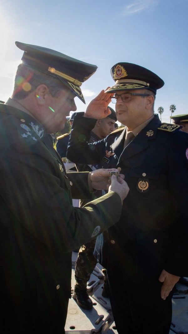
POLYGON ((130 194, 134 198, 151 199, 160 196, 163 182, 161 170, 148 167, 132 167, 130 170, 130 194))

